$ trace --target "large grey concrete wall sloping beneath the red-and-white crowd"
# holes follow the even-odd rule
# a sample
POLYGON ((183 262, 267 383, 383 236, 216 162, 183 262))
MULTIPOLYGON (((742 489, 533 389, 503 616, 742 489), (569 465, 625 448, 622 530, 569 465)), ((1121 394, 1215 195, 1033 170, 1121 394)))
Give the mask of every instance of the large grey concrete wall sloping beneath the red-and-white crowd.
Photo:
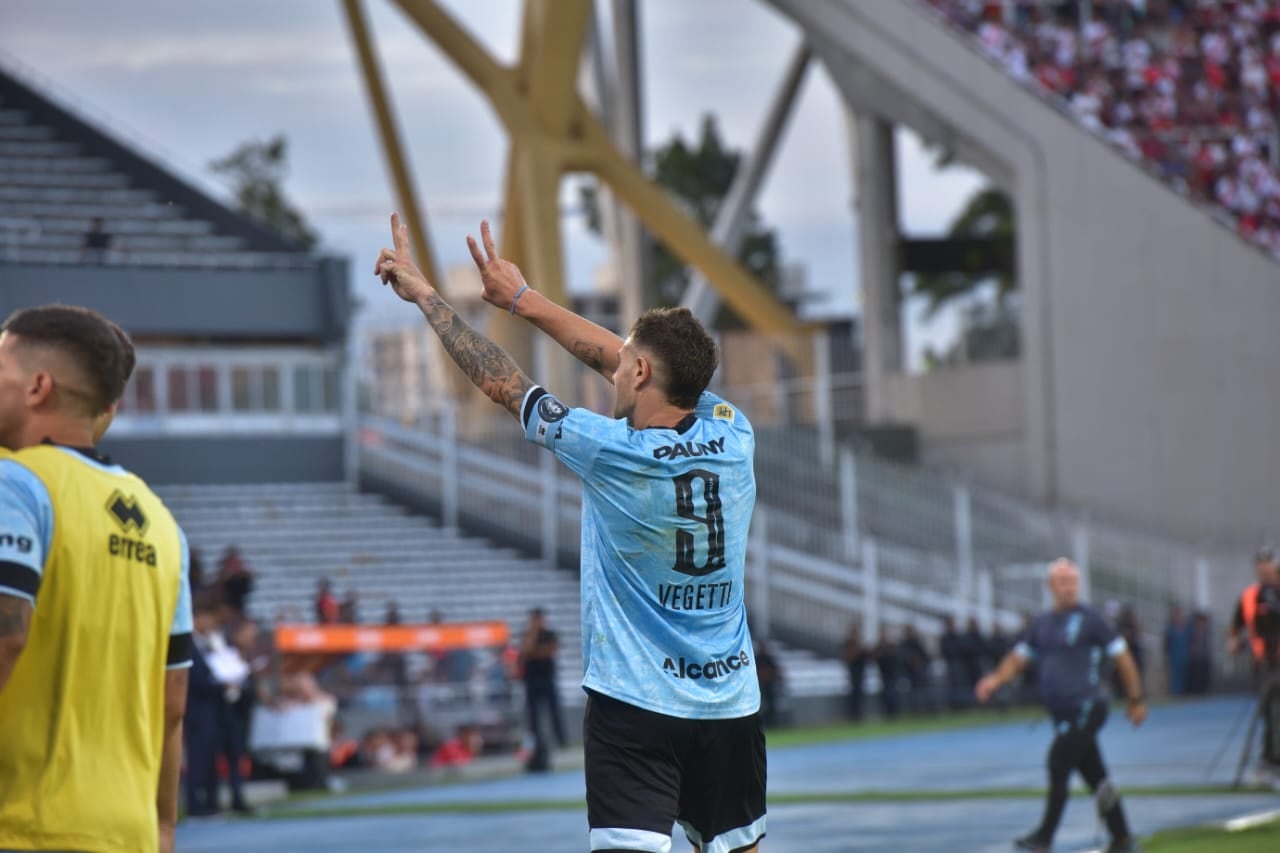
MULTIPOLYGON (((1019 492, 1189 540, 1275 535, 1280 265, 1019 85, 923 3, 772 1, 837 82, 868 70, 892 81, 914 113, 945 127, 932 141, 1000 163, 988 173, 1019 216, 1019 492)), ((851 106, 904 122, 896 100, 851 106)), ((948 397, 980 411, 1005 392, 991 394, 948 397)), ((982 475, 982 452, 951 457, 982 475)))

